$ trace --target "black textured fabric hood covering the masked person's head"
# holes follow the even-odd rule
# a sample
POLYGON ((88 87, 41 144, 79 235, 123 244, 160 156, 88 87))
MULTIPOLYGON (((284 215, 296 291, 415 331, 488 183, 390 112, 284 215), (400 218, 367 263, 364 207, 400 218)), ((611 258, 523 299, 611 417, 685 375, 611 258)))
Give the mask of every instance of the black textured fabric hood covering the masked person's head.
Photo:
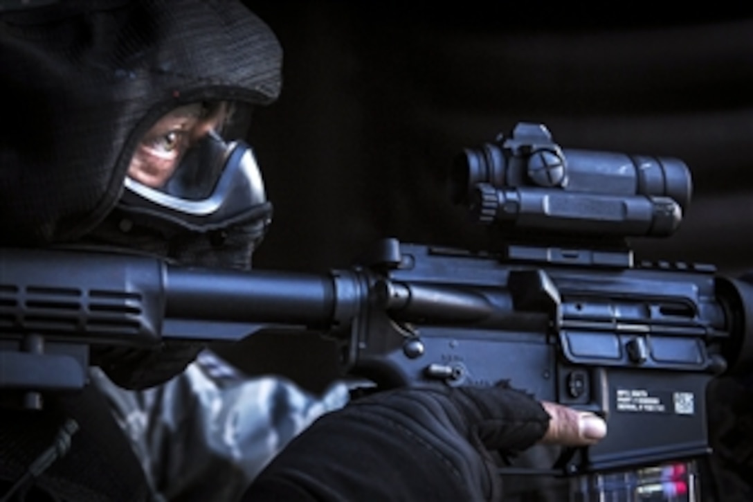
POLYGON ((0 15, 0 243, 75 240, 117 203, 130 156, 166 111, 264 105, 282 49, 228 0, 60 2, 0 15))

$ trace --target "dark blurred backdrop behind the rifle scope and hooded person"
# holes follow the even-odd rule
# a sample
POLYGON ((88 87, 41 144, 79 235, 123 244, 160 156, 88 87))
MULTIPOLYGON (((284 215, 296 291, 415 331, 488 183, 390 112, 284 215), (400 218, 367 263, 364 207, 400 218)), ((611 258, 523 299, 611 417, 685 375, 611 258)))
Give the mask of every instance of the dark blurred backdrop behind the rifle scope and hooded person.
MULTIPOLYGON (((633 240, 636 258, 753 268, 753 18, 711 8, 650 17, 508 2, 246 3, 285 49, 282 97, 252 127, 275 204, 256 267, 342 268, 387 236, 483 245, 483 231, 450 204, 447 168, 463 147, 536 121, 565 148, 668 155, 691 168, 680 230, 633 240)), ((311 347, 286 355, 292 369, 279 369, 267 350, 256 355, 270 339, 246 341, 236 362, 325 384, 328 346, 306 338, 311 347)))

